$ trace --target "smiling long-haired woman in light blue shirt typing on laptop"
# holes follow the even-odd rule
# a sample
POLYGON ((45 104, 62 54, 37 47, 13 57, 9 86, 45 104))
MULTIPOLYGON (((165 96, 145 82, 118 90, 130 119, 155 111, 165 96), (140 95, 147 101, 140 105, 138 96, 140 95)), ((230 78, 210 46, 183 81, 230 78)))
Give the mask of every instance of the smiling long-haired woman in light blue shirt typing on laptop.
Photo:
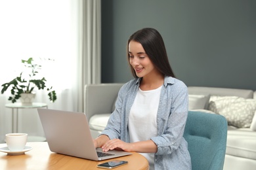
POLYGON ((116 109, 95 147, 140 152, 150 169, 191 169, 183 138, 188 90, 173 74, 160 33, 140 29, 127 46, 135 79, 119 90, 116 109))

